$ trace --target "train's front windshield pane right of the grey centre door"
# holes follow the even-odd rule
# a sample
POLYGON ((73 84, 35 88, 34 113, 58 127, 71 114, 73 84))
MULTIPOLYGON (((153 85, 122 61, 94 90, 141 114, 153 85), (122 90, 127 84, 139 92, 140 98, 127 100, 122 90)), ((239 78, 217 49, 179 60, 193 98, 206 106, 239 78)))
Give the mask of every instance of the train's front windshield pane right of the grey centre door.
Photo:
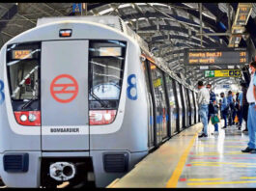
POLYGON ((90 41, 90 109, 116 109, 121 94, 126 42, 90 41))

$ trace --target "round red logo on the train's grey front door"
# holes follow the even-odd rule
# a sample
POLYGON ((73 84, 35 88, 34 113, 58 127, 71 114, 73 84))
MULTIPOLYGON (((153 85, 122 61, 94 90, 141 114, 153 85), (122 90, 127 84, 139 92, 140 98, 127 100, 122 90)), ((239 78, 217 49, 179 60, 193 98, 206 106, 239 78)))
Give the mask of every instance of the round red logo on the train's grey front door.
POLYGON ((78 84, 69 74, 58 75, 50 84, 50 94, 58 102, 69 103, 78 94, 78 84))

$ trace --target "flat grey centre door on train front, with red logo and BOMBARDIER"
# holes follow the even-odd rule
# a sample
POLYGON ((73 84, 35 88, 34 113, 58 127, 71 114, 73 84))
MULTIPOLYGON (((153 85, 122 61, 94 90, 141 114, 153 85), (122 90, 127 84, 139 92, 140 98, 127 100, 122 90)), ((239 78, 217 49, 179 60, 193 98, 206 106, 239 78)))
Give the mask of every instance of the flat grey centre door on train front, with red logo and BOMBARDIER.
POLYGON ((88 44, 42 42, 42 150, 89 150, 88 44))

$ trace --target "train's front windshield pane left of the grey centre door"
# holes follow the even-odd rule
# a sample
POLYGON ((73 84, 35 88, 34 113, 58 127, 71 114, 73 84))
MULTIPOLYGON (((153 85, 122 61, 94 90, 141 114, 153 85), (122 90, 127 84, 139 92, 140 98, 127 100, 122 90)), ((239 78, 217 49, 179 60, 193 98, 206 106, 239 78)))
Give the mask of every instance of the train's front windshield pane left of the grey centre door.
POLYGON ((39 109, 40 62, 40 42, 15 43, 7 46, 7 69, 14 111, 39 109))

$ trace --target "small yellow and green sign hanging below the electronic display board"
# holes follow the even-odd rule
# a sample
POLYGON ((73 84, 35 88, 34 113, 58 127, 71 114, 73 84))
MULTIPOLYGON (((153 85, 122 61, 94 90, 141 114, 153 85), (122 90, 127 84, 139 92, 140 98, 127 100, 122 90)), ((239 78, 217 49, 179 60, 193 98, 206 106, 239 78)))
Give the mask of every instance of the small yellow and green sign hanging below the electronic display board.
POLYGON ((240 69, 205 70, 205 77, 241 77, 240 69))

